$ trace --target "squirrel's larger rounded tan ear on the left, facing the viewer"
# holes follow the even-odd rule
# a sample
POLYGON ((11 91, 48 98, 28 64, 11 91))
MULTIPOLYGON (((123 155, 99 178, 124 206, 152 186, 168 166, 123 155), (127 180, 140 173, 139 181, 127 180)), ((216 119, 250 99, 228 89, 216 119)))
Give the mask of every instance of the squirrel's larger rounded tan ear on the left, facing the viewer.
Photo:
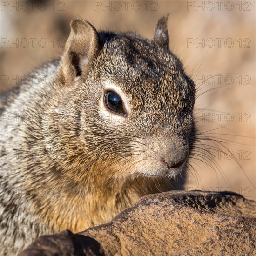
POLYGON ((87 21, 74 19, 62 55, 62 75, 67 84, 82 74, 87 74, 100 48, 99 34, 87 21))

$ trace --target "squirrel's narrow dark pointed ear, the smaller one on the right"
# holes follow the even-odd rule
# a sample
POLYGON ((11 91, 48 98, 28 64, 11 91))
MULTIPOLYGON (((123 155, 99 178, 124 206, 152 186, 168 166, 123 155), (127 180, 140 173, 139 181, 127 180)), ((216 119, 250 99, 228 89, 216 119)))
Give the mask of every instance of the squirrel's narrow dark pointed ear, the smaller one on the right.
POLYGON ((160 20, 158 20, 155 28, 154 37, 155 43, 166 49, 169 48, 169 35, 167 30, 168 16, 169 14, 163 16, 160 20))

